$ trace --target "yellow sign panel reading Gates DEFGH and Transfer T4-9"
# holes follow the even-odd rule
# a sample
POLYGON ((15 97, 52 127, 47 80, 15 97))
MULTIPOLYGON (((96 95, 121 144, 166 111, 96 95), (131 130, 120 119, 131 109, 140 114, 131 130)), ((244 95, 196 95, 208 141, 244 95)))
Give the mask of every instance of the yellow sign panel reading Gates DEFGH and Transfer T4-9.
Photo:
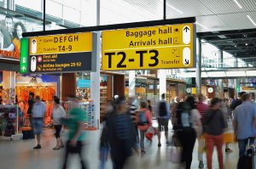
POLYGON ((91 51, 91 32, 30 38, 30 55, 69 54, 91 51))

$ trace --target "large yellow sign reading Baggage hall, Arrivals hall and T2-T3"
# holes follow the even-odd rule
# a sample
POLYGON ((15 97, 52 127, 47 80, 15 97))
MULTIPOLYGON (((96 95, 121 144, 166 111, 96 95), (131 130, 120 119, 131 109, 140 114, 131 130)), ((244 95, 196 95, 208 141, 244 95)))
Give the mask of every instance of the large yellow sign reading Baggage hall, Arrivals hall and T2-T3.
POLYGON ((102 32, 102 70, 192 68, 194 24, 102 32))

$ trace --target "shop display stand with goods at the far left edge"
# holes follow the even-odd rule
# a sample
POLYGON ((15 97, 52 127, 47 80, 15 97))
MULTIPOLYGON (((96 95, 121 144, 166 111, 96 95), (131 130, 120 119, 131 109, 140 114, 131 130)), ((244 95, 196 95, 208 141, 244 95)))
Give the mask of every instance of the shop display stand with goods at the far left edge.
POLYGON ((19 108, 17 104, 0 105, 1 132, 4 139, 21 139, 19 133, 19 108))

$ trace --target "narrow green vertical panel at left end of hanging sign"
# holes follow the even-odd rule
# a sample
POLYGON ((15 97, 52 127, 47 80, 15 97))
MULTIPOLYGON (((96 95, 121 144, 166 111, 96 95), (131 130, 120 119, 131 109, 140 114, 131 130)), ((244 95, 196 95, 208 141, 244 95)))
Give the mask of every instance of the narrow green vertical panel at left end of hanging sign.
POLYGON ((20 40, 20 73, 27 73, 28 38, 20 40))

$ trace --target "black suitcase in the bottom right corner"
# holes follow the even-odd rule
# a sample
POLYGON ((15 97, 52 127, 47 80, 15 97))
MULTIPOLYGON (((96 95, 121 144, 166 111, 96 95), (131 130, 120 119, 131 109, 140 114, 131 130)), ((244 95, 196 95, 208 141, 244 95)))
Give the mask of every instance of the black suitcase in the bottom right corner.
POLYGON ((247 149, 246 155, 239 157, 237 169, 256 169, 256 145, 247 149))

